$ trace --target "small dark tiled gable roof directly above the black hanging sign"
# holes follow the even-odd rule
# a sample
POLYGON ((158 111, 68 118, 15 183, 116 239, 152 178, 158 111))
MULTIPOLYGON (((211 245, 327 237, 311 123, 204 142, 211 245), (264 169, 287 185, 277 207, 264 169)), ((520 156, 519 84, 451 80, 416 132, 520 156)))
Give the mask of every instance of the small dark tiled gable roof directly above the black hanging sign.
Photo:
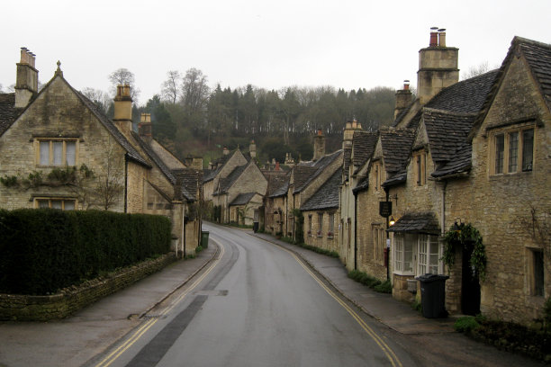
POLYGON ((410 157, 415 131, 411 129, 381 128, 384 168, 389 176, 402 170, 410 157))

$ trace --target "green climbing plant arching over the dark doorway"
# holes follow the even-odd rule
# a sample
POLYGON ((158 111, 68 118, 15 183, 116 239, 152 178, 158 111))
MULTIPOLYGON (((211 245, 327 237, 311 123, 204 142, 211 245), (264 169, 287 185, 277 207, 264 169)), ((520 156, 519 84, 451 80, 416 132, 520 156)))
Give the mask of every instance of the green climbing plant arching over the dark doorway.
POLYGON ((484 281, 486 278, 486 250, 483 245, 482 236, 478 229, 474 228, 470 223, 460 224, 457 230, 452 226, 444 236, 444 256, 442 260, 449 268, 456 262, 456 253, 454 245, 460 244, 465 246, 467 242, 474 242, 473 253, 471 254, 471 265, 478 273, 480 279, 484 281))

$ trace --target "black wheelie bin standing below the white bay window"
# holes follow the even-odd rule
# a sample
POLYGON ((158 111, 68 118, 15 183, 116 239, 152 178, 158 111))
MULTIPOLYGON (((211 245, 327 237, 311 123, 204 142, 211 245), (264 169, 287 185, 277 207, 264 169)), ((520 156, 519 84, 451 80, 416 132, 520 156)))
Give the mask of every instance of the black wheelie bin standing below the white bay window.
POLYGON ((446 318, 447 275, 425 274, 418 276, 421 288, 421 306, 425 318, 446 318))

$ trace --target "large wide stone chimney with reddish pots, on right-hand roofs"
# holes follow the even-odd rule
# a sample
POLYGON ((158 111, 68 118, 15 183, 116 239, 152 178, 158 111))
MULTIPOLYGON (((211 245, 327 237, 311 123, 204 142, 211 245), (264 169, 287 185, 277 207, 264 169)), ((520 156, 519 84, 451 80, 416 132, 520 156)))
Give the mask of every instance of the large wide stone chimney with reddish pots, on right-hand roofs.
POLYGON ((429 47, 419 51, 417 94, 421 104, 459 81, 458 59, 459 49, 446 46, 446 30, 432 27, 429 47))

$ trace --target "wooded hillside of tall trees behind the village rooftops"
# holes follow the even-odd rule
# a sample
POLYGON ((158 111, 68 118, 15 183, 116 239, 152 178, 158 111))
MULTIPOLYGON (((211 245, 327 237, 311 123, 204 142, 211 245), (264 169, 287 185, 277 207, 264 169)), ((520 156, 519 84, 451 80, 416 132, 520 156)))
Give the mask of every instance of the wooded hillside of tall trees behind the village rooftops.
MULTIPOLYGON (((119 69, 110 75, 112 85, 129 84, 137 99, 140 90, 133 74, 119 69)), ((312 135, 321 129, 326 151, 340 148, 347 120, 356 119, 364 130, 376 130, 393 121, 394 93, 389 87, 345 91, 332 86, 289 86, 266 90, 253 85, 231 89, 210 88, 207 76, 191 68, 184 75, 167 72, 159 94, 132 112, 137 125, 141 112, 151 113, 153 135, 178 157, 202 156, 204 164, 221 156, 222 147, 248 150, 257 144, 260 162, 312 158, 312 135)), ((113 115, 109 94, 91 88, 83 90, 113 115)))

